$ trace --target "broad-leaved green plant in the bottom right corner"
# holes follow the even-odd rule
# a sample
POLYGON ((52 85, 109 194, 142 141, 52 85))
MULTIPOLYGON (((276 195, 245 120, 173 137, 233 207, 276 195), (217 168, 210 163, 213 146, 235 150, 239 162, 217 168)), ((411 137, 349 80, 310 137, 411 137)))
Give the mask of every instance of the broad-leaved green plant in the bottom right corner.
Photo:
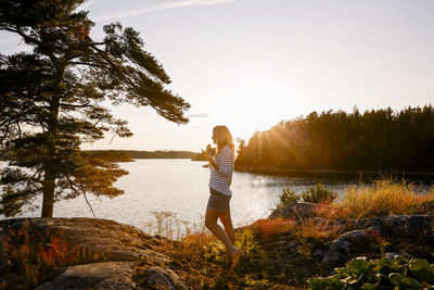
POLYGON ((310 289, 433 289, 434 266, 426 260, 398 256, 395 260, 367 261, 357 257, 336 274, 326 278, 309 278, 310 289))

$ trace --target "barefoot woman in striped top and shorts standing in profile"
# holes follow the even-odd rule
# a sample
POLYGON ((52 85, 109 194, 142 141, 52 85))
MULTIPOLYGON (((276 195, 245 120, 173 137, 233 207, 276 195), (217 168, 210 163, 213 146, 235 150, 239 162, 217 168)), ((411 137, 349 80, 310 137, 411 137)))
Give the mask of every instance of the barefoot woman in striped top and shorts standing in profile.
POLYGON ((203 151, 209 162, 209 200, 206 206, 205 226, 217 236, 226 245, 228 256, 237 262, 241 250, 234 245, 235 232, 230 216, 229 201, 232 197, 230 185, 232 184, 234 144, 232 135, 226 126, 216 126, 213 129, 213 141, 217 144, 217 153, 213 157, 203 151), (225 230, 217 224, 220 218, 225 230))

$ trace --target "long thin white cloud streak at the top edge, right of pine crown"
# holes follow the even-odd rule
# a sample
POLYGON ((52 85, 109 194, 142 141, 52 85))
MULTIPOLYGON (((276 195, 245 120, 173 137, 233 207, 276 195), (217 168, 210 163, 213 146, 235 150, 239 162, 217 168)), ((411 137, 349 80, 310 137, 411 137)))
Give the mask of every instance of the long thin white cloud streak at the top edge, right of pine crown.
POLYGON ((106 20, 113 20, 113 18, 122 18, 122 17, 133 16, 133 15, 140 15, 140 14, 145 14, 145 13, 151 13, 151 12, 156 12, 156 11, 162 11, 162 10, 168 10, 168 9, 174 9, 174 8, 216 5, 216 4, 230 3, 230 2, 237 2, 237 1, 240 1, 240 0, 170 1, 170 2, 163 3, 161 5, 138 9, 138 10, 129 10, 129 11, 125 11, 125 12, 120 12, 120 13, 116 13, 116 14, 100 15, 100 16, 93 17, 93 20, 94 21, 106 21, 106 20))

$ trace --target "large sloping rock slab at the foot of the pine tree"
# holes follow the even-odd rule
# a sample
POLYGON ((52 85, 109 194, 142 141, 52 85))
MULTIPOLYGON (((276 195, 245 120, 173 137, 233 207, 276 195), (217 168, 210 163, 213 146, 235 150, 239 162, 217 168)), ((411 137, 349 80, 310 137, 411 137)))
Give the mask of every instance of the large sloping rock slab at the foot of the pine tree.
POLYGON ((107 261, 148 261, 167 264, 169 259, 154 251, 163 242, 140 229, 108 219, 95 218, 11 218, 0 220, 0 227, 29 230, 47 235, 58 231, 76 245, 104 256, 107 261))

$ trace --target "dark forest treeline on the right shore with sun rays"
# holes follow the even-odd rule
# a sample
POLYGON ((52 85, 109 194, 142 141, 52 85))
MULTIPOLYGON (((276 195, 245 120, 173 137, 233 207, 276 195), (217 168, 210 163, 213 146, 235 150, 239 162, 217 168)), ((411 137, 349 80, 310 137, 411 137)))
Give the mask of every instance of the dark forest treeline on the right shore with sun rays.
POLYGON ((280 122, 241 141, 238 167, 433 172, 434 109, 328 111, 280 122))

